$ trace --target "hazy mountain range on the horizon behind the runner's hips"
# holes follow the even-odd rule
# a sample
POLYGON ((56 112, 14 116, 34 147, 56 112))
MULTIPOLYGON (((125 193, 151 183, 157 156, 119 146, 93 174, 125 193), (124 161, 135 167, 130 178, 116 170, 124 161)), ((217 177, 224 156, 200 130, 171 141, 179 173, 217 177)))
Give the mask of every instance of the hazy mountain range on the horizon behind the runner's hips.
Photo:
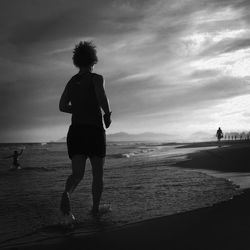
MULTIPOLYGON (((145 132, 139 134, 129 134, 119 132, 114 134, 107 134, 107 141, 169 141, 173 140, 174 136, 164 133, 145 132)), ((56 142, 66 142, 66 137, 63 137, 56 142)))

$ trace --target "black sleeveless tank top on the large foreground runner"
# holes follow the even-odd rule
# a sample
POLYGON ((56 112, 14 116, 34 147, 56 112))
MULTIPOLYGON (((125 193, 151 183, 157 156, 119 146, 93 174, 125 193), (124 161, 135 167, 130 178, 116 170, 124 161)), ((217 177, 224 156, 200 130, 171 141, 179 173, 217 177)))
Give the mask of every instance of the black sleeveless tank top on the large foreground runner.
POLYGON ((98 103, 94 73, 77 74, 69 81, 69 98, 72 105, 72 124, 94 125, 103 128, 102 112, 98 103))

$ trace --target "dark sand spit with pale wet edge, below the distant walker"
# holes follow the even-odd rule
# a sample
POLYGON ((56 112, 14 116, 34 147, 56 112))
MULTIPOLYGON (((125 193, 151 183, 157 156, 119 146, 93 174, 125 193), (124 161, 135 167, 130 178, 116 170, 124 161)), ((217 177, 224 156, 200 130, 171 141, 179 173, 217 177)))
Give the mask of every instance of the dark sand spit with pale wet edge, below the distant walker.
MULTIPOLYGON (((190 143, 179 148, 216 146, 216 142, 190 143)), ((221 147, 187 154, 187 160, 177 162, 175 167, 198 171, 215 178, 231 181, 240 190, 250 189, 250 141, 223 141, 221 147), (234 154, 230 154, 231 151, 234 154)))

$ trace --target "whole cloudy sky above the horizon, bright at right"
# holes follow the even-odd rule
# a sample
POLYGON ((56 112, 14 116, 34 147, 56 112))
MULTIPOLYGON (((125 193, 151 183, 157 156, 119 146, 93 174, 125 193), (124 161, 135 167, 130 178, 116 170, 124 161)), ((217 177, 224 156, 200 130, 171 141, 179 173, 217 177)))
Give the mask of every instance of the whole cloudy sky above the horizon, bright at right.
POLYGON ((250 128, 249 0, 1 0, 0 142, 65 136, 58 102, 93 40, 108 133, 250 128))

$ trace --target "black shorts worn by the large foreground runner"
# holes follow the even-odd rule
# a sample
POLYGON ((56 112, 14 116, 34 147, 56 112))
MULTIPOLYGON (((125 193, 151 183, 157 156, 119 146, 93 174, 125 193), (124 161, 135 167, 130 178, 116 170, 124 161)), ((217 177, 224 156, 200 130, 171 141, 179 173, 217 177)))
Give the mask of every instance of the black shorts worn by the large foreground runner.
POLYGON ((67 134, 68 155, 86 157, 106 156, 106 134, 103 128, 92 125, 70 125, 67 134))

